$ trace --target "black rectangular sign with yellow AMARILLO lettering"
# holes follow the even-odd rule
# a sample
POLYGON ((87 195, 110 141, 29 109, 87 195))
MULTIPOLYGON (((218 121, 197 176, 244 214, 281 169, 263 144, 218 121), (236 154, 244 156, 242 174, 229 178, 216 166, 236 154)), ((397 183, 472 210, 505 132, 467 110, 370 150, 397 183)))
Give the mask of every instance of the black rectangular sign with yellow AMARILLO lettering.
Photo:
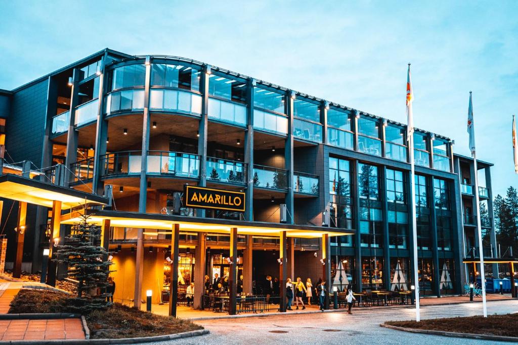
POLYGON ((244 212, 244 193, 196 186, 185 186, 185 206, 244 212))

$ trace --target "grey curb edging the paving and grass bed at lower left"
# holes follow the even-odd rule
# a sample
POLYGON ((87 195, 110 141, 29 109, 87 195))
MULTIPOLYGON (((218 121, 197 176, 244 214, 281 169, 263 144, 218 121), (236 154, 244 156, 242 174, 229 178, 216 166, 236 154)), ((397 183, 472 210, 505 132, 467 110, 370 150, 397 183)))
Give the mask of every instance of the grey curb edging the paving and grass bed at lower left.
POLYGON ((153 337, 140 338, 121 338, 121 339, 69 339, 69 340, 11 340, 0 341, 0 344, 12 345, 93 345, 93 344, 138 344, 145 342, 166 341, 190 337, 198 337, 209 334, 208 329, 199 329, 198 331, 183 332, 177 334, 159 335, 153 337))

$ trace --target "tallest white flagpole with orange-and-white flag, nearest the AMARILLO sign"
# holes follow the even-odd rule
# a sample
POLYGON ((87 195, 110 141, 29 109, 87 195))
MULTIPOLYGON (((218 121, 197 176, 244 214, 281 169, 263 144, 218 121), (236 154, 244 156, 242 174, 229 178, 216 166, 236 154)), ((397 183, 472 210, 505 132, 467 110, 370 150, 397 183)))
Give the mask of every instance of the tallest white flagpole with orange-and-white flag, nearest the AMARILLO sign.
POLYGON ((415 213, 415 163, 414 163, 414 127, 412 115, 412 91, 410 86, 410 64, 408 64, 408 80, 407 80, 407 137, 408 151, 410 159, 410 207, 412 209, 412 243, 413 243, 413 263, 414 263, 414 293, 415 293, 415 321, 421 321, 419 309, 419 266, 418 266, 418 234, 417 220, 415 213), (410 99, 409 99, 410 96, 410 99))

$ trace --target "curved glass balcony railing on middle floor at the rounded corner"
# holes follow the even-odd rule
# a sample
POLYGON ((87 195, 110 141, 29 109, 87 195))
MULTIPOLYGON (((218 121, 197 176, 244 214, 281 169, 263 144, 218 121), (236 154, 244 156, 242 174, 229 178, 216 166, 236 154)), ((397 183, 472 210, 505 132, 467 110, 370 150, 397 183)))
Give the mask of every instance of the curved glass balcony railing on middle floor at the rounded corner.
MULTIPOLYGON (((199 156, 169 151, 148 151, 147 173, 199 177, 199 156)), ((100 157, 101 176, 138 175, 142 161, 141 151, 115 152, 100 157)))

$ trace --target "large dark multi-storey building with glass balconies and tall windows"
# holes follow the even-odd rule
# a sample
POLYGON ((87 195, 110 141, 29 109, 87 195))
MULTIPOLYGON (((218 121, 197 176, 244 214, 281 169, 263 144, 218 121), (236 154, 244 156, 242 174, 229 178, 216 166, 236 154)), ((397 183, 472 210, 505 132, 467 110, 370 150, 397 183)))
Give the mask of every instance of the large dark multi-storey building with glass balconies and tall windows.
MULTIPOLYGON (((0 111, 6 159, 48 168, 40 178, 52 183, 112 193, 114 210, 335 228, 347 233, 330 237, 330 275, 347 277, 335 279, 339 289, 352 283, 358 291, 409 290, 414 284, 404 124, 191 59, 109 49, 2 91, 0 111), (56 172, 56 164, 66 167, 66 176, 56 172), (245 211, 181 207, 185 185, 243 192, 245 211)), ((453 141, 439 134, 416 129, 414 143, 421 294, 458 294, 473 272, 463 260, 478 245, 473 164, 454 154, 453 141)), ((478 192, 487 209, 482 226, 497 257, 491 166, 479 161, 485 178, 478 192)), ((16 219, 8 216, 8 205, 2 219, 11 238, 16 219)), ((51 238, 48 210, 34 207, 27 223, 33 231, 24 267, 36 272, 51 238)), ((144 258, 142 291, 162 289, 170 280, 170 233, 139 229, 110 232, 120 282, 116 300, 137 296, 136 252, 144 258)), ((195 275, 198 241, 196 233, 180 233, 186 282, 195 275)), ((257 263, 249 267, 253 272, 238 264, 251 281, 277 274, 279 238, 249 235, 237 241, 237 256, 257 263)), ((229 236, 208 231, 204 242, 205 272, 225 275, 229 236)), ((290 237, 287 275, 321 277, 322 255, 321 239, 290 237)), ((13 256, 9 251, 10 261, 13 256)), ((246 284, 245 290, 253 289, 246 284)))

